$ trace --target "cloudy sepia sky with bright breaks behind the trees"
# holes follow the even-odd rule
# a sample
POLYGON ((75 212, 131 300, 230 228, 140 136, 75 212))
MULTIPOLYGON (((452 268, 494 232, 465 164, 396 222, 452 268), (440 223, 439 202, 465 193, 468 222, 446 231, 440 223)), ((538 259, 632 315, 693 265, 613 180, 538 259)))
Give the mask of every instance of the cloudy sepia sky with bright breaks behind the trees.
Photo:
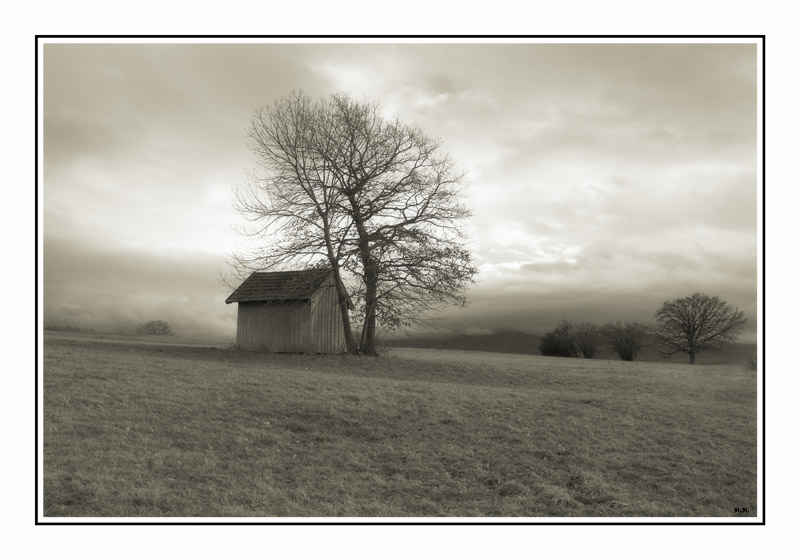
POLYGON ((378 101, 466 172, 480 273, 431 332, 650 322, 706 292, 756 340, 755 44, 64 44, 43 50, 45 324, 235 337, 221 281, 253 112, 378 101))

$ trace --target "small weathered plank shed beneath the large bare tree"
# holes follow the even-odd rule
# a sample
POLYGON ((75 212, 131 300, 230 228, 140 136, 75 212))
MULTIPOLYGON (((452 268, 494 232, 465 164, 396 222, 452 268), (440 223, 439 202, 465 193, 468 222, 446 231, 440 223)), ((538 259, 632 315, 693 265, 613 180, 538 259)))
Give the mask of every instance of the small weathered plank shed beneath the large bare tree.
POLYGON ((225 303, 239 304, 239 348, 309 354, 346 350, 331 270, 254 272, 225 303))

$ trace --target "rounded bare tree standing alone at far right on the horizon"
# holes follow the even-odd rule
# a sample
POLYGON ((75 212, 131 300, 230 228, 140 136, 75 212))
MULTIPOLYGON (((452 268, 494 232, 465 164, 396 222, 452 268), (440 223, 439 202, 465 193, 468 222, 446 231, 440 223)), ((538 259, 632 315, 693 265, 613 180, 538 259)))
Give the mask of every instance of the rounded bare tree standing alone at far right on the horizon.
POLYGON ((659 354, 688 354, 694 364, 698 353, 730 346, 746 321, 744 312, 716 296, 695 293, 665 301, 656 311, 659 354))

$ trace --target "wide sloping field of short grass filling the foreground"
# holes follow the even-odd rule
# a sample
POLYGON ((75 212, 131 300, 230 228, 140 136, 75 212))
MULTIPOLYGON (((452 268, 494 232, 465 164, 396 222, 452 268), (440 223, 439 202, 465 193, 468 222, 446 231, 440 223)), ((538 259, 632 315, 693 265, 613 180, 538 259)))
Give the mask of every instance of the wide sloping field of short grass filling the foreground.
POLYGON ((43 378, 47 517, 757 514, 743 366, 47 332, 43 378))

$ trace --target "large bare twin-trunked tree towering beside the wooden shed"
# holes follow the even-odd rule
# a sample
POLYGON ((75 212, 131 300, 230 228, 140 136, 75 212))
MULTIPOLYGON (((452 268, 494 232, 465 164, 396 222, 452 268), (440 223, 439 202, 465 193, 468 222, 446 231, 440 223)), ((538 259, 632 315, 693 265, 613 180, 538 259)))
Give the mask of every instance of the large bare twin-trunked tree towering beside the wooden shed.
POLYGON ((438 141, 344 94, 293 93, 258 110, 249 136, 260 169, 237 207, 262 243, 235 256, 239 269, 331 268, 351 353, 377 352, 379 324, 465 304, 477 269, 461 231, 463 174, 438 141))

